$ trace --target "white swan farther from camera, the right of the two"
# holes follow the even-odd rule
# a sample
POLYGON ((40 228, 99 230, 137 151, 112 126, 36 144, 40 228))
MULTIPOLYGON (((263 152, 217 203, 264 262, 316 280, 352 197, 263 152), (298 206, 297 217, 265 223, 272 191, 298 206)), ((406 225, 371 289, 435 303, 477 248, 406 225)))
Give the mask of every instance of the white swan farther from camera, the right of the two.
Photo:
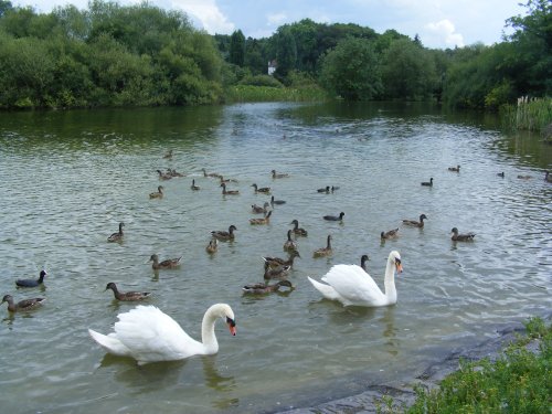
POLYGON ((309 277, 312 286, 323 297, 339 300, 344 306, 388 306, 396 304, 395 270, 403 270, 401 255, 393 251, 389 254, 385 268, 385 293, 382 293, 375 282, 358 265, 336 265, 322 276, 326 284, 309 277))

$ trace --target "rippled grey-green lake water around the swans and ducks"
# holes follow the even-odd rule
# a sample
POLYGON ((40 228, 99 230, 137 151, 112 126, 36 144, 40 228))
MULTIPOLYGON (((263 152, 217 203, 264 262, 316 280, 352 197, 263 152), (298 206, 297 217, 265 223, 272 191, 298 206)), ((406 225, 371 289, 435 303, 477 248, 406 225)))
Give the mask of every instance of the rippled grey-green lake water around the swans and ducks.
POLYGON ((0 307, 2 412, 259 413, 400 384, 499 327, 550 311, 546 169, 552 147, 539 136, 423 105, 0 114, 0 293, 46 298, 26 315, 0 307), (456 164, 459 173, 447 170, 456 164), (156 170, 167 168, 187 177, 160 181, 156 170), (229 188, 241 194, 223 197, 202 168, 237 179, 229 188), (290 177, 273 180, 273 169, 290 177), (422 187, 429 178, 434 187, 422 187), (269 200, 253 183, 287 201, 269 225, 250 225, 251 205, 269 200), (160 184, 164 198, 150 200, 160 184), (326 185, 339 189, 317 192, 326 185), (342 223, 321 219, 341 211, 342 223), (423 230, 402 226, 422 213, 423 230), (295 290, 243 296, 243 285, 263 282, 262 256, 285 257, 294 219, 309 231, 298 238, 295 290), (119 222, 124 242, 107 243, 119 222), (210 232, 231 224, 236 240, 209 256, 210 232), (454 226, 476 241, 453 243, 454 226), (380 233, 394 227, 400 237, 382 244, 380 233), (332 256, 312 258, 328 234, 332 256), (368 254, 382 286, 392 250, 404 266, 396 306, 343 308, 307 280, 368 254), (182 266, 156 273, 153 253, 182 256, 182 266), (15 288, 42 268, 45 288, 15 288), (136 305, 114 301, 108 282, 151 291, 148 304, 197 339, 206 308, 227 302, 237 336, 219 322, 219 353, 180 362, 106 355, 87 328, 107 333, 136 305))

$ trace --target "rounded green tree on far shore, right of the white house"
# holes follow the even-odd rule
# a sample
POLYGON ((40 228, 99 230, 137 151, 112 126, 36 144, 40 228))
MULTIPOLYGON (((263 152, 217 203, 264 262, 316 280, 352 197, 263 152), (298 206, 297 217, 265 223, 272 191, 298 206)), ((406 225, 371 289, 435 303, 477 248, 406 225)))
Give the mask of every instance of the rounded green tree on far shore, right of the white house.
POLYGON ((382 91, 378 57, 369 41, 342 40, 323 57, 320 84, 347 100, 368 100, 382 91))

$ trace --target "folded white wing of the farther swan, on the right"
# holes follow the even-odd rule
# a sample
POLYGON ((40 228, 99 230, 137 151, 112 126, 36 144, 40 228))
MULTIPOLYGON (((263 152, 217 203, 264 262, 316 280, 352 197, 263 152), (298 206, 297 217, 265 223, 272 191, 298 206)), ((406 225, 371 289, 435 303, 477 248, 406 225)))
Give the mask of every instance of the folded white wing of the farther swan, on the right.
POLYGON ((386 296, 358 265, 336 265, 322 277, 346 301, 344 305, 381 306, 386 296))

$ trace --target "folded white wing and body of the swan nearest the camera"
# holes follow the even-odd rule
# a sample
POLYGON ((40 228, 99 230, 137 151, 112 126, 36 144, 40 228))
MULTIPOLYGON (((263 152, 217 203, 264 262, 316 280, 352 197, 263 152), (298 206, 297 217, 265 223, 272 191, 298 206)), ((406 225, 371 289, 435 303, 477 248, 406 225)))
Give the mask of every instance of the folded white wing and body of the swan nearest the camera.
POLYGON ((171 361, 204 353, 201 342, 155 306, 138 306, 118 318, 112 335, 138 362, 171 361))

